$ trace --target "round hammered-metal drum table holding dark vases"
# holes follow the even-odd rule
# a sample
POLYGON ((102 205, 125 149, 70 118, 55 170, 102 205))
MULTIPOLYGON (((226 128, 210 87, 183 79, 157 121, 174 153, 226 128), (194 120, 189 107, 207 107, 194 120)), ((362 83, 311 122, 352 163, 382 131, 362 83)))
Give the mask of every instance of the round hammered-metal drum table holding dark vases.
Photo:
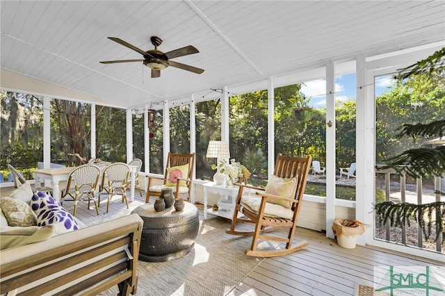
POLYGON ((172 206, 154 211, 154 204, 143 204, 133 210, 144 221, 139 259, 148 262, 170 261, 188 254, 195 246, 200 228, 196 206, 184 202, 183 211, 172 206))

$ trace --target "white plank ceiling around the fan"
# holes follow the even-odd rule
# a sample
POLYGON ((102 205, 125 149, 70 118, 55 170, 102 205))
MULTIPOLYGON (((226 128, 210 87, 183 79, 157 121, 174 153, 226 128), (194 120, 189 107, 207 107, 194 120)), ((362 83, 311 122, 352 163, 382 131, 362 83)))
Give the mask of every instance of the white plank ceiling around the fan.
POLYGON ((123 108, 260 81, 328 60, 353 60, 444 40, 444 1, 1 1, 1 68, 123 108), (150 78, 140 59, 152 35, 175 67, 150 78))

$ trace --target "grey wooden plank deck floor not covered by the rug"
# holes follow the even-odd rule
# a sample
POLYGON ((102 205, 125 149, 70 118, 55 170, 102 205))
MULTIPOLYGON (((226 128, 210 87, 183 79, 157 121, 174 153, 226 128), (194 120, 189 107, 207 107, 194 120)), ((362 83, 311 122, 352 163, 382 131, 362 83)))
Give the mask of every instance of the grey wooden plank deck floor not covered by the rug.
MULTIPOLYGON (((87 209, 86 202, 82 202, 78 205, 76 216, 86 224, 95 224, 128 215, 144 202, 145 197, 136 193, 135 200, 129 202, 127 209, 121 197, 115 196, 109 213, 105 213, 106 199, 102 198, 99 215, 96 215, 93 207, 87 209)), ((72 213, 72 202, 64 202, 63 206, 72 213)), ((200 209, 200 219, 204 219, 202 204, 196 206, 200 209)), ((344 249, 323 233, 308 229, 298 229, 296 240, 307 240, 310 245, 293 254, 266 258, 228 295, 355 295, 356 283, 373 286, 374 266, 444 265, 370 247, 344 249)), ((138 292, 143 295, 143 291, 138 292)))

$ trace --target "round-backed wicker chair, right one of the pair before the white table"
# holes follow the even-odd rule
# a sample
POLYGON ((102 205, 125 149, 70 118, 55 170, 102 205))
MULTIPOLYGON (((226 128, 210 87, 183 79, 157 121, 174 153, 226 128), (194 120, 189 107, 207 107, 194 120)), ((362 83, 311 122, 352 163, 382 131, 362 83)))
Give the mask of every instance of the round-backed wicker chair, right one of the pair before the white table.
POLYGON ((122 202, 125 201, 128 208, 127 188, 129 187, 129 176, 130 167, 127 163, 112 163, 105 167, 102 173, 102 188, 100 191, 105 191, 107 194, 106 213, 108 213, 111 197, 115 193, 122 194, 122 202))

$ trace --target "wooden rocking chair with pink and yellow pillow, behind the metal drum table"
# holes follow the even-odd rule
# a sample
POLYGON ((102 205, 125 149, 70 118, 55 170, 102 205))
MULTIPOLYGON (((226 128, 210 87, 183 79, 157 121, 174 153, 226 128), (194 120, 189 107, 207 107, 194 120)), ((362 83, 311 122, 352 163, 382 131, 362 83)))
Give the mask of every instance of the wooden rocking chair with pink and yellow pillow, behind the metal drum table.
POLYGON ((157 176, 147 176, 147 196, 145 203, 149 202, 149 197, 159 197, 163 188, 172 188, 175 198, 181 197, 190 200, 190 192, 192 187, 193 165, 195 164, 195 154, 172 154, 168 153, 167 165, 165 166, 165 174, 163 178, 157 176), (176 170, 178 167, 186 167, 184 173, 176 170), (171 173, 171 174, 170 174, 171 173), (181 175, 181 176, 179 176, 181 175), (153 179, 163 180, 163 185, 152 186, 153 179))

